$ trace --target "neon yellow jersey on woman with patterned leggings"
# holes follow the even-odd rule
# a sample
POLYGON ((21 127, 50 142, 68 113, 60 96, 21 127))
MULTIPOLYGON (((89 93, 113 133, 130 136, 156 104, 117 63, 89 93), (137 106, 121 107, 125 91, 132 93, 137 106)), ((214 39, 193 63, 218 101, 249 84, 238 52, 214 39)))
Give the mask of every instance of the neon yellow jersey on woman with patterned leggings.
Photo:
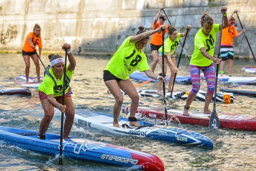
POLYGON ((200 48, 205 47, 207 53, 213 56, 216 34, 219 31, 219 24, 213 24, 212 30, 207 37, 202 32, 202 28, 198 30, 197 34, 195 35, 195 49, 192 58, 190 59, 190 65, 206 67, 212 64, 212 60, 205 58, 201 53, 200 48))

